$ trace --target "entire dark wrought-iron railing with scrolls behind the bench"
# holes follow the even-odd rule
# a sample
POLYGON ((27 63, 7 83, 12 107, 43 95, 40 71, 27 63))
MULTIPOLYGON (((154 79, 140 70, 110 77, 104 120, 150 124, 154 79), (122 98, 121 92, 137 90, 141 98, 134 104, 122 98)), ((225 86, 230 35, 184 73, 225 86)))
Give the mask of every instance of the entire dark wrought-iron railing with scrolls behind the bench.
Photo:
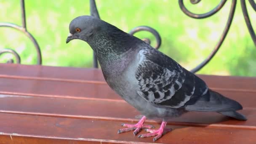
MULTIPOLYGON (((207 18, 207 17, 210 17, 210 16, 214 15, 221 8, 223 8, 225 3, 227 2, 227 0, 221 0, 221 2, 215 8, 213 8, 211 11, 209 11, 207 13, 197 14, 197 13, 192 13, 191 11, 189 11, 184 6, 183 1, 184 0, 179 0, 179 6, 180 6, 181 10, 187 16, 189 16, 191 18, 194 18, 194 19, 204 19, 204 18, 207 18)), ((197 3, 200 3, 200 1, 201 0, 190 0, 190 3, 197 4, 197 3)), ((253 0, 248 0, 248 1, 250 3, 251 7, 253 8, 253 10, 256 11, 256 3, 253 0)), ((42 56, 41 56, 40 47, 37 44, 37 41, 35 40, 35 38, 27 31, 24 0, 20 0, 20 3, 21 3, 22 26, 5 22, 5 23, 0 23, 0 27, 11 27, 11 28, 17 29, 17 30, 23 32, 27 37, 29 37, 29 39, 32 41, 32 43, 34 44, 35 49, 37 51, 37 64, 42 64, 42 56)), ((251 26, 251 21, 250 21, 250 18, 248 16, 245 0, 240 0, 240 3, 241 3, 241 7, 242 7, 245 23, 246 23, 246 25, 248 27, 248 31, 249 31, 249 33, 251 35, 251 38, 253 40, 254 45, 256 45, 256 35, 255 35, 254 31, 253 31, 253 27, 251 26)), ((206 59, 203 62, 201 62, 197 67, 192 69, 191 72, 197 72, 202 67, 204 67, 206 64, 208 64, 208 62, 213 58, 213 56, 217 53, 217 51, 221 47, 224 39, 227 36, 229 28, 230 28, 230 26, 232 24, 232 20, 233 20, 233 17, 234 17, 236 4, 237 4, 237 0, 232 0, 231 6, 230 6, 230 11, 229 11, 229 17, 227 19, 226 26, 224 28, 224 31, 222 32, 222 35, 221 35, 218 43, 213 48, 213 51, 211 51, 211 53, 206 57, 206 59)), ((95 16, 97 18, 100 18, 99 12, 98 12, 97 7, 96 7, 95 0, 90 0, 90 11, 91 11, 91 16, 95 16)), ((157 44, 155 45, 155 48, 157 48, 157 49, 160 48, 161 37, 160 37, 159 33, 155 29, 153 29, 151 27, 147 27, 147 26, 139 26, 139 27, 133 28, 129 33, 131 35, 134 35, 136 32, 139 32, 139 31, 151 32, 155 36, 156 41, 157 41, 157 44)), ((144 40, 145 42, 150 44, 150 40, 148 38, 144 38, 142 40, 144 40)), ((10 48, 0 49, 0 55, 3 54, 3 53, 12 53, 15 56, 15 58, 16 58, 16 62, 20 64, 21 59, 20 59, 19 54, 16 53, 16 51, 14 51, 14 50, 12 50, 10 48)), ((7 63, 13 63, 13 59, 8 60, 7 63)), ((93 53, 93 67, 95 67, 95 68, 98 67, 98 62, 97 62, 97 58, 96 58, 95 53, 93 53)))

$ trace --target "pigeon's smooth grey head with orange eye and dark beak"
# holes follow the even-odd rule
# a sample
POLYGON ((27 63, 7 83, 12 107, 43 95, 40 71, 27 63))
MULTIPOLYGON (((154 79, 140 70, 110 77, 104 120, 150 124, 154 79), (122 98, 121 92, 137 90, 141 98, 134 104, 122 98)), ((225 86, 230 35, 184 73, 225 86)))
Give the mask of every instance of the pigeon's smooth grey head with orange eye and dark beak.
POLYGON ((102 23, 100 19, 93 16, 79 16, 73 19, 69 24, 69 35, 66 43, 70 40, 80 39, 87 42, 87 40, 94 33, 101 29, 102 23))

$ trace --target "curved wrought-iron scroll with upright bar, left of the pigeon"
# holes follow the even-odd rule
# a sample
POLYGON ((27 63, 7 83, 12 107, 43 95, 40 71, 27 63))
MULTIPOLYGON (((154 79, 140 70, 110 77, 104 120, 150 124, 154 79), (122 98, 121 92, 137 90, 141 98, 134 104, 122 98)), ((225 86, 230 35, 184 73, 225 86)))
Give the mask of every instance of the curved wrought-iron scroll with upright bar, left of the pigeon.
MULTIPOLYGON (((8 23, 8 22, 2 22, 2 23, 0 23, 0 27, 11 27, 13 29, 19 30, 20 32, 23 32, 32 41, 32 43, 35 46, 35 49, 37 51, 37 64, 42 64, 42 56, 41 56, 41 51, 40 51, 39 45, 38 45, 37 41, 35 40, 35 38, 27 31, 24 0, 21 0, 20 4, 21 4, 22 26, 19 26, 17 24, 8 23)), ((20 64, 21 59, 20 59, 19 54, 16 51, 11 50, 9 48, 0 49, 0 55, 3 53, 12 53, 16 58, 16 62, 18 64, 20 64)), ((9 59, 7 61, 7 63, 13 63, 13 62, 14 62, 13 59, 9 59)))

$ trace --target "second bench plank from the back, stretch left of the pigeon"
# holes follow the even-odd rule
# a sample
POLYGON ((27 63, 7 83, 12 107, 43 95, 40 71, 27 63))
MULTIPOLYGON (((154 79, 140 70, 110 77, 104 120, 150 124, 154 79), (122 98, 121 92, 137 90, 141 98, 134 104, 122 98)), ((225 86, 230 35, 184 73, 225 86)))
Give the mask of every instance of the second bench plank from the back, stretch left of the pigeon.
POLYGON ((0 78, 0 93, 72 99, 121 99, 105 84, 0 78), (110 97, 109 97, 110 96, 110 97))

